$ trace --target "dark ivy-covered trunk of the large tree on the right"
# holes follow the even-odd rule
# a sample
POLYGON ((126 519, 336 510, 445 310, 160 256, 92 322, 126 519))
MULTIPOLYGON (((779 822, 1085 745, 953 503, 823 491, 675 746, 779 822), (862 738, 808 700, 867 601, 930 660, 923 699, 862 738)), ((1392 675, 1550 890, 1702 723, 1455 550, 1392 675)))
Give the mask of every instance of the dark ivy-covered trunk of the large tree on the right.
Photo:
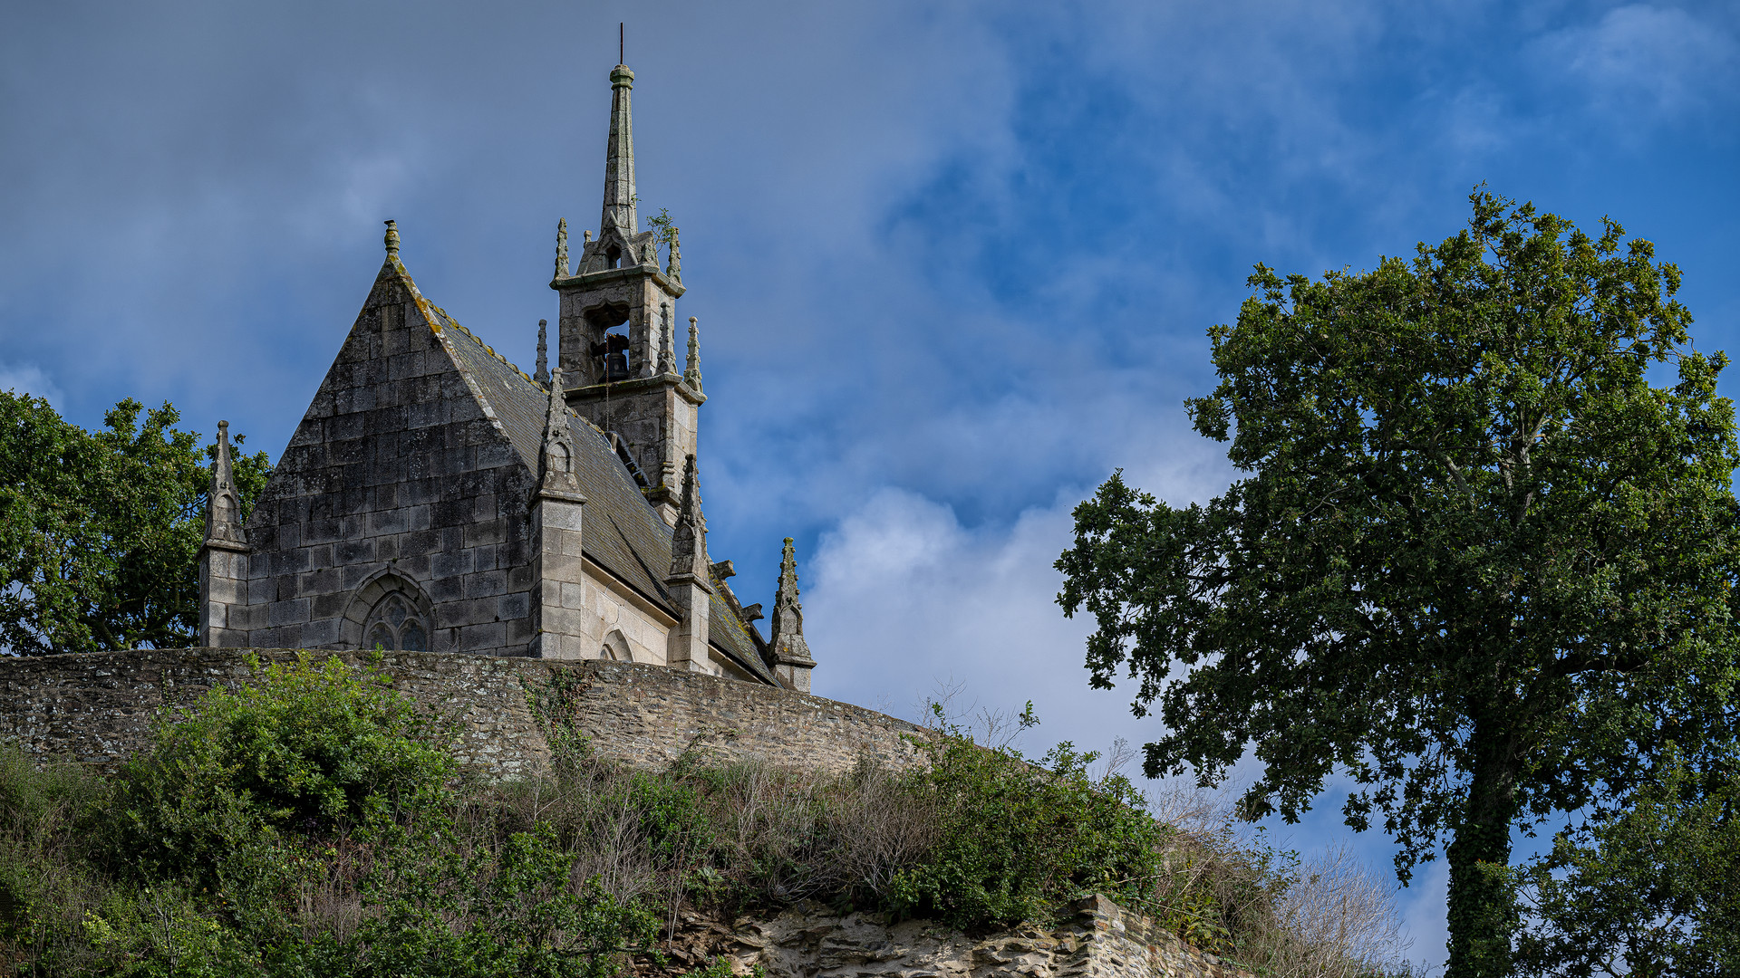
POLYGON ((1449 964, 1444 978, 1505 978, 1517 928, 1510 886, 1517 738, 1488 719, 1474 722, 1474 778, 1449 844, 1449 964))

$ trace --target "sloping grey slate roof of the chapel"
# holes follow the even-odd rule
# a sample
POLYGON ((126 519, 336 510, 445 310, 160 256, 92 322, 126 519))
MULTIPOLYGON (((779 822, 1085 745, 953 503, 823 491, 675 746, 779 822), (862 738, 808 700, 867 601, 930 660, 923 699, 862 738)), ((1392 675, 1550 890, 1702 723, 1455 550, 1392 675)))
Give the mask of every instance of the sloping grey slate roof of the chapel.
MULTIPOLYGON (((520 461, 536 473, 550 388, 485 346, 470 329, 449 317, 447 310, 432 305, 432 311, 440 322, 447 348, 452 350, 454 364, 482 402, 484 414, 494 418, 520 461)), ((586 557, 675 616, 670 592, 663 585, 670 571, 672 527, 647 503, 640 486, 602 432, 574 414, 569 414, 569 430, 578 451, 574 477, 581 494, 586 496, 586 533, 581 545, 586 557)), ((762 682, 780 686, 760 656, 760 647, 767 642, 750 635, 750 628, 719 597, 719 590, 715 585, 708 613, 708 644, 762 682)))

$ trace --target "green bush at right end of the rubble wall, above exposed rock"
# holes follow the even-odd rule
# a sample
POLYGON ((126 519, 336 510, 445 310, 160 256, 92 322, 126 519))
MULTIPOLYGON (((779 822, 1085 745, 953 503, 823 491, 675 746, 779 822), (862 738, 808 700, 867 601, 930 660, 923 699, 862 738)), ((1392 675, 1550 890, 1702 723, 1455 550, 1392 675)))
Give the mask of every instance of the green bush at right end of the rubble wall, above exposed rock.
POLYGON ((1089 893, 1152 908, 1169 830, 1128 778, 1088 773, 1098 755, 1060 743, 1034 764, 957 727, 914 743, 929 766, 910 774, 910 790, 933 800, 941 825, 929 858, 894 877, 891 910, 981 928, 1089 893))

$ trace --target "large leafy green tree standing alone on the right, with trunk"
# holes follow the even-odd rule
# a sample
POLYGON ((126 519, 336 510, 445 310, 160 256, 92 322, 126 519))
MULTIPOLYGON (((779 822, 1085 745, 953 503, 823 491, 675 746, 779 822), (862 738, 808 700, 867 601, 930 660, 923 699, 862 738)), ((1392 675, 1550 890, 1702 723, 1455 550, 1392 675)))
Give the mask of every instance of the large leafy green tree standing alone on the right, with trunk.
POLYGON ((1611 221, 1470 200, 1411 261, 1258 265, 1188 402, 1246 477, 1173 508, 1114 473, 1058 560, 1093 684, 1128 665, 1166 724, 1150 776, 1255 747, 1246 818, 1340 771, 1404 882, 1448 841, 1449 978, 1510 973, 1512 830, 1601 816, 1733 726, 1740 564, 1728 360, 1691 348, 1679 270, 1611 221))

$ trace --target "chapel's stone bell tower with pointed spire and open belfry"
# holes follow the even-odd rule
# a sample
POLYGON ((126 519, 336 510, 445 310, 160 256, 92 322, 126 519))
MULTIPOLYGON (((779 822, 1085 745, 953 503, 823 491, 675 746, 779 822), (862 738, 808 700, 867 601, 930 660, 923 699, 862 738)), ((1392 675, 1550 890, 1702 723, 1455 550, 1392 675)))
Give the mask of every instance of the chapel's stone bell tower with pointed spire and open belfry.
POLYGON ((562 298, 557 348, 569 407, 609 435, 647 499, 677 526, 684 459, 696 454, 699 364, 691 334, 687 369, 677 365, 675 320, 682 263, 668 238, 642 231, 635 214, 635 73, 611 70, 611 139, 604 158, 599 237, 586 233, 569 270, 567 221, 557 224, 555 278, 562 298), (668 265, 659 266, 659 245, 668 265), (680 371, 680 372, 679 372, 680 371))

